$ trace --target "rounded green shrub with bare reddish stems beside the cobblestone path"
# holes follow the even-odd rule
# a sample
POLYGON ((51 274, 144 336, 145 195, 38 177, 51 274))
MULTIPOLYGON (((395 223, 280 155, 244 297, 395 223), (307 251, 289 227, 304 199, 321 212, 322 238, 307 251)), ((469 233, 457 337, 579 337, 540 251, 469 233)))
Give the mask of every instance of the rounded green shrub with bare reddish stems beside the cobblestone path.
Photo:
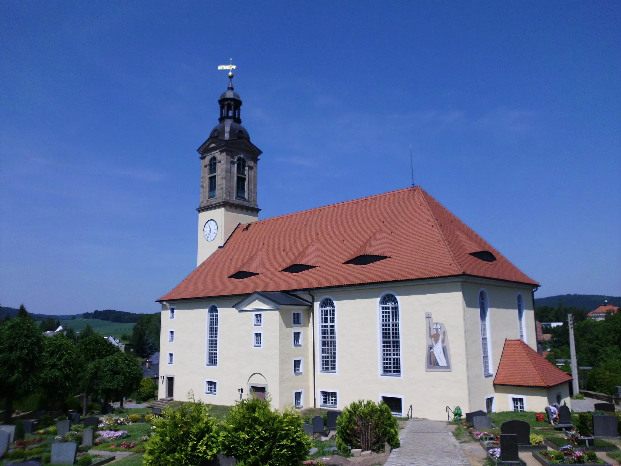
POLYGON ((337 448, 383 451, 384 442, 391 449, 399 448, 399 424, 392 416, 390 408, 383 401, 354 401, 337 418, 337 448))

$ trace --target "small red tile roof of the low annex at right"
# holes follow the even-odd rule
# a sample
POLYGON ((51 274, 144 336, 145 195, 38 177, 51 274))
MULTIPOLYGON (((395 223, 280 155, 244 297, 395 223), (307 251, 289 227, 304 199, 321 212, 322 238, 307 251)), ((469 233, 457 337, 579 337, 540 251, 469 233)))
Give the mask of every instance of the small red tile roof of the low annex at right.
POLYGON ((494 385, 555 386, 568 382, 563 372, 522 340, 505 340, 494 385))

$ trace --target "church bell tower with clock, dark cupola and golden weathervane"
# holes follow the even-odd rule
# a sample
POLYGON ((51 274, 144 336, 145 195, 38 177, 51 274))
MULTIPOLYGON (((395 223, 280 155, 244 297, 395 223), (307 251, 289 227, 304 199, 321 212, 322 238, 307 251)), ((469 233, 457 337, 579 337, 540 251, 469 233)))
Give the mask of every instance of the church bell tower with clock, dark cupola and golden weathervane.
POLYGON ((257 165, 261 150, 250 142, 242 126, 242 99, 233 91, 233 65, 229 88, 220 96, 219 124, 211 130, 201 154, 201 202, 198 211, 197 264, 222 246, 238 224, 258 220, 257 165))

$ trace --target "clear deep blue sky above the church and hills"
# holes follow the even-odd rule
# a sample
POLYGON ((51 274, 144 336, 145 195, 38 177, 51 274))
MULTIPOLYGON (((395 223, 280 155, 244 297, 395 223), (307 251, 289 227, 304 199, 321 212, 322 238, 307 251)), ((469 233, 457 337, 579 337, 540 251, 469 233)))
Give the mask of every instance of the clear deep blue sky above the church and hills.
POLYGON ((0 2, 0 304, 155 312, 233 62, 260 218, 410 185, 621 295, 621 3, 0 2))

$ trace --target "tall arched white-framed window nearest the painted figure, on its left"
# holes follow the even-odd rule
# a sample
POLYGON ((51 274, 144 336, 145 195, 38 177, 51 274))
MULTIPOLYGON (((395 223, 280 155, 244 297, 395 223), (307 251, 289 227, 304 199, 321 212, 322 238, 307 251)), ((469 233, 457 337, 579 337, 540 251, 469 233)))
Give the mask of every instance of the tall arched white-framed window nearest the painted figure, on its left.
POLYGON ((384 295, 379 301, 382 324, 382 373, 401 375, 401 340, 399 333, 399 303, 394 295, 384 295))

